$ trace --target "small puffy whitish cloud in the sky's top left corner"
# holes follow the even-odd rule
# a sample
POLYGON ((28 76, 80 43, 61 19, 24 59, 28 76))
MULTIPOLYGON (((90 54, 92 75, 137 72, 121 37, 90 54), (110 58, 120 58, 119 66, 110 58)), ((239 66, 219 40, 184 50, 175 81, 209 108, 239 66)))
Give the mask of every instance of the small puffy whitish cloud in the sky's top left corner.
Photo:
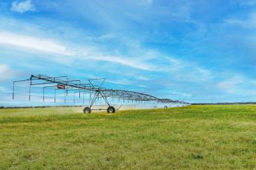
POLYGON ((14 1, 11 4, 11 11, 15 11, 17 13, 25 13, 27 11, 35 11, 35 7, 31 3, 31 0, 14 1))

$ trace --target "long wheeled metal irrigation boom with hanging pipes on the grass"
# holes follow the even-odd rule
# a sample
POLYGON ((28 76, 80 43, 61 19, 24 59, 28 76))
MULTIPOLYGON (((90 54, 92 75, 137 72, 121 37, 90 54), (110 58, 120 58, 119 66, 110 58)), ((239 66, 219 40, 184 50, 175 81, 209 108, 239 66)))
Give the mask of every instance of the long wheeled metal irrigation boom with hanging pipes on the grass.
MULTIPOLYGON (((30 81, 29 84, 29 101, 31 100, 31 86, 36 85, 43 85, 43 102, 45 101, 45 90, 47 88, 54 88, 55 92, 55 102, 56 102, 56 90, 63 90, 64 96, 68 96, 70 92, 73 92, 73 102, 75 103, 75 94, 79 93, 79 98, 81 98, 81 94, 83 94, 83 104, 85 101, 85 94, 89 94, 89 107, 86 107, 83 111, 85 113, 91 112, 91 107, 95 104, 95 100, 99 98, 103 98, 106 104, 109 106, 107 112, 115 112, 115 108, 111 106, 108 98, 115 98, 118 101, 131 101, 131 103, 145 103, 145 102, 157 102, 158 104, 170 104, 170 103, 177 103, 177 104, 189 104, 187 102, 182 102, 179 100, 171 100, 167 98, 157 98, 155 96, 151 96, 149 94, 144 94, 141 92, 134 92, 129 90, 117 90, 111 88, 103 88, 102 85, 105 82, 105 78, 96 78, 96 79, 89 79, 86 80, 87 83, 84 83, 84 80, 69 80, 67 76, 43 76, 38 74, 37 76, 31 75, 27 80, 18 80, 13 82, 13 99, 14 99, 14 92, 15 92, 15 83, 17 82, 25 82, 30 81), (93 84, 93 81, 100 81, 99 85, 93 84)), ((66 102, 66 97, 65 97, 66 102)))

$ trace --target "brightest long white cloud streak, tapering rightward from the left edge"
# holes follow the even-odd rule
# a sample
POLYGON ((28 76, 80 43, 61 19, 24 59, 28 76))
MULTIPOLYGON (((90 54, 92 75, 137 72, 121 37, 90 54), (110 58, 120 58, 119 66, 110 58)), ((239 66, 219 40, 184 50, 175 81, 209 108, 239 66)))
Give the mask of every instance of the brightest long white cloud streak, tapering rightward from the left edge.
MULTIPOLYGON (((65 56, 72 56, 73 59, 77 58, 80 60, 101 60, 107 62, 115 62, 129 66, 131 68, 137 68, 141 70, 154 70, 152 66, 148 64, 143 64, 139 60, 131 60, 129 58, 120 57, 120 56, 103 56, 99 54, 87 54, 85 52, 77 52, 74 50, 68 49, 66 46, 58 44, 55 41, 48 39, 41 39, 38 37, 29 37, 25 35, 17 35, 15 33, 9 32, 0 32, 0 44, 8 44, 13 46, 19 46, 21 48, 31 48, 33 50, 39 50, 41 52, 50 52, 54 54, 63 54, 65 56)), ((55 57, 53 60, 59 61, 61 63, 67 64, 72 60, 71 57, 55 57), (67 59, 67 60, 65 60, 67 59)))

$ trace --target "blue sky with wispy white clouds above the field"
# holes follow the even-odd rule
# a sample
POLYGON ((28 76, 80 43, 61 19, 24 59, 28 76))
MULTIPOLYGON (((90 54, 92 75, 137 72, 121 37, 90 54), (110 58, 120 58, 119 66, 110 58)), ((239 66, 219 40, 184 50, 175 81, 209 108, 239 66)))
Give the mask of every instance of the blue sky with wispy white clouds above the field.
MULTIPOLYGON (((0 105, 30 74, 186 102, 256 102, 256 1, 0 1, 0 105)), ((18 96, 19 96, 18 95, 18 96)), ((33 104, 40 104, 35 92, 33 104)))

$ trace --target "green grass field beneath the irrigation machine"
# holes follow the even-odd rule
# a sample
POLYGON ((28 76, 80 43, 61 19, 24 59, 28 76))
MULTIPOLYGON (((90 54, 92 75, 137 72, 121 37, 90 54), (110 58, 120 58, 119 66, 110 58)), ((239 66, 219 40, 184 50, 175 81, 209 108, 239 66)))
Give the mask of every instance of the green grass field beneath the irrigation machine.
POLYGON ((0 110, 0 169, 256 169, 256 106, 0 110))

